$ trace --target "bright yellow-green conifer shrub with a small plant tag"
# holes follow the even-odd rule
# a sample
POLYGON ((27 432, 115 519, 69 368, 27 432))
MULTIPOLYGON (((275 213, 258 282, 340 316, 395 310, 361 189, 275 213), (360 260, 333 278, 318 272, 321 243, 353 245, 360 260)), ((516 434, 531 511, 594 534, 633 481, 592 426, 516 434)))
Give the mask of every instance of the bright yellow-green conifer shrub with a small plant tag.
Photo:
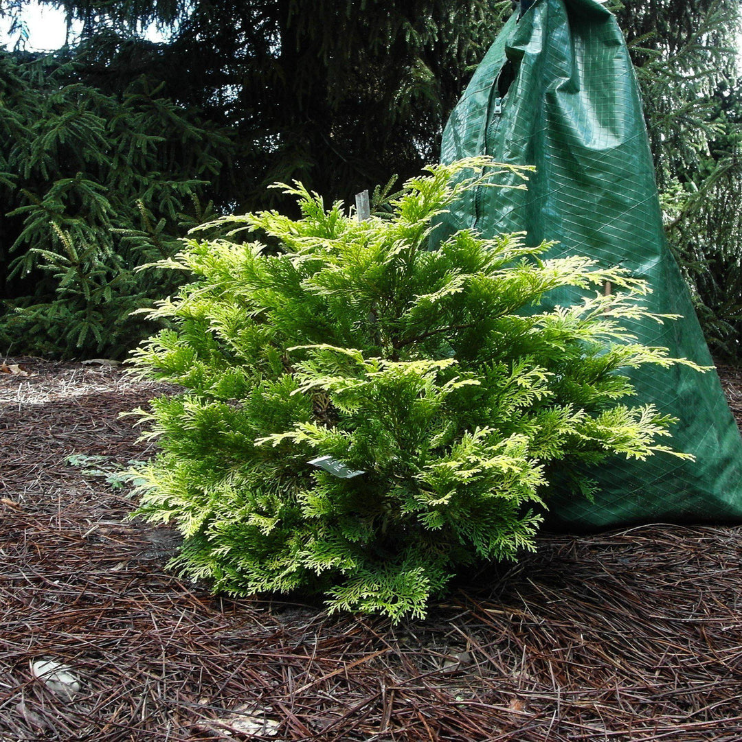
POLYGON ((435 165, 362 222, 284 186, 301 218, 226 217, 262 243, 191 239, 172 261, 192 282, 134 362, 184 392, 137 410, 160 444, 137 514, 177 525, 180 571, 420 617, 462 567, 534 548, 557 474, 589 496, 577 467, 672 453, 671 418, 623 401, 622 369, 688 363, 622 324, 647 315, 639 280, 520 234, 437 243, 436 215, 497 172, 435 165), (585 301, 541 309, 559 286, 585 301), (310 463, 327 456, 340 476, 310 463))

